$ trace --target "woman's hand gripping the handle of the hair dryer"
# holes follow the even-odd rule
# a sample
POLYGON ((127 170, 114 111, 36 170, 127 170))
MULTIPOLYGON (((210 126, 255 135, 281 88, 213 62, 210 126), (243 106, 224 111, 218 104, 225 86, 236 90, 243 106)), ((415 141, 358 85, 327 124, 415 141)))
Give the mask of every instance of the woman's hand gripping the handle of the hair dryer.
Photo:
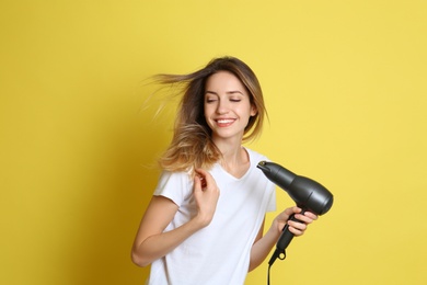
POLYGON ((311 212, 305 212, 304 214, 300 214, 301 210, 302 210, 301 208, 295 206, 281 212, 274 220, 277 230, 281 233, 285 225, 288 224, 289 231, 292 232, 295 236, 303 235, 308 225, 310 225, 311 223, 318 219, 318 215, 311 212), (289 217, 292 214, 295 214, 296 219, 300 221, 290 220, 289 217))

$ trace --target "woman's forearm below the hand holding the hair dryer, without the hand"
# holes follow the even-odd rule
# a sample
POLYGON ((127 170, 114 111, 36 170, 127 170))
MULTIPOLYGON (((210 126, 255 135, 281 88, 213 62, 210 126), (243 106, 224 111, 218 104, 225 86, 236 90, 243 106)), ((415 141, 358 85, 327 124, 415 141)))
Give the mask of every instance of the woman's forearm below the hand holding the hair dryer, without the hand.
POLYGON ((252 246, 249 271, 253 271, 263 263, 272 248, 276 244, 279 236, 280 232, 276 228, 270 227, 266 235, 252 246))

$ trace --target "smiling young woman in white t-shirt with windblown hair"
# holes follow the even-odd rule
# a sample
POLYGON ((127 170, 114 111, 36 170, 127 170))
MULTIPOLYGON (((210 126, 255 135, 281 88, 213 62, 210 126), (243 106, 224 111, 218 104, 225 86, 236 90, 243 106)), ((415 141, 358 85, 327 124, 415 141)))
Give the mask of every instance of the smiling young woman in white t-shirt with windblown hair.
POLYGON ((275 185, 256 168, 266 157, 242 147, 259 135, 266 113, 251 68, 238 58, 211 60, 184 76, 174 136, 163 173, 141 220, 132 261, 151 264, 148 284, 243 284, 276 244, 282 228, 301 236, 318 218, 298 207, 275 210, 275 185), (296 214, 302 223, 288 220, 296 214))

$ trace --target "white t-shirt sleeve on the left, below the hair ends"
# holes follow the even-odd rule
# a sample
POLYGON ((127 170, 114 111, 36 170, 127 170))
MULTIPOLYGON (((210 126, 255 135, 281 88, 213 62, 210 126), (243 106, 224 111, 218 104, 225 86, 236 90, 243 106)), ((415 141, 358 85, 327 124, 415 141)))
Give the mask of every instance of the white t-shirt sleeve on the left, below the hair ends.
POLYGON ((181 206, 183 201, 191 195, 193 181, 186 172, 163 171, 154 190, 154 196, 163 196, 181 206))

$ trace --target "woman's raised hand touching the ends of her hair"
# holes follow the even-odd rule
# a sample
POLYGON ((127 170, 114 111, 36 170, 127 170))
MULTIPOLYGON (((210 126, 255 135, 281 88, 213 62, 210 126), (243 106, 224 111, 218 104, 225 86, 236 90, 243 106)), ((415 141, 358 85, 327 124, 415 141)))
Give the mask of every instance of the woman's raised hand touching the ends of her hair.
POLYGON ((198 210, 196 218, 206 227, 214 218, 220 191, 212 175, 203 169, 196 169, 193 191, 198 210))

